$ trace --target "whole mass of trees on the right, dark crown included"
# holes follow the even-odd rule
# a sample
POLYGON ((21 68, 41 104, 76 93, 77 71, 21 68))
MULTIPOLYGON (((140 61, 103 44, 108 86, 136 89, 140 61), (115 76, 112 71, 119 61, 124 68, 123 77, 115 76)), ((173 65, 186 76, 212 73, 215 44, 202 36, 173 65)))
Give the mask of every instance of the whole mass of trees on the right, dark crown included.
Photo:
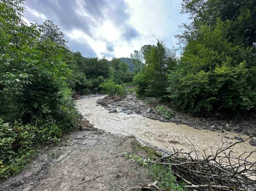
POLYGON ((173 103, 203 113, 256 107, 255 3, 183 0, 192 22, 177 35, 186 46, 169 75, 173 103))

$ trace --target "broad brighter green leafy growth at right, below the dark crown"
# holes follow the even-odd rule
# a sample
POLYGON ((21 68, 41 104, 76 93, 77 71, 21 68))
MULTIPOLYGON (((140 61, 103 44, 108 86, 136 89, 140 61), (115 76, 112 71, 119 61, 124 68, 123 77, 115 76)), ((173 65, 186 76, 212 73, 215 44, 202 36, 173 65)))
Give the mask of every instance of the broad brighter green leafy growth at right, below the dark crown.
POLYGON ((253 48, 234 46, 223 37, 229 25, 202 26, 189 40, 181 63, 169 74, 169 97, 189 112, 243 111, 256 108, 256 57, 253 48))

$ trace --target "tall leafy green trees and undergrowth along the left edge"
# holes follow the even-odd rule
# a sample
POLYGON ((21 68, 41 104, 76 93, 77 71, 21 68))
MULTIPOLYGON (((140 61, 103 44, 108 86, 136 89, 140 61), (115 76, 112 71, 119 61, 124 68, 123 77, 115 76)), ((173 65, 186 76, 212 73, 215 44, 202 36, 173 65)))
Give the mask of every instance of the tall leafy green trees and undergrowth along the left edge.
POLYGON ((78 117, 63 47, 40 40, 41 26, 24 23, 22 3, 0 2, 0 178, 18 173, 33 146, 57 141, 78 117))

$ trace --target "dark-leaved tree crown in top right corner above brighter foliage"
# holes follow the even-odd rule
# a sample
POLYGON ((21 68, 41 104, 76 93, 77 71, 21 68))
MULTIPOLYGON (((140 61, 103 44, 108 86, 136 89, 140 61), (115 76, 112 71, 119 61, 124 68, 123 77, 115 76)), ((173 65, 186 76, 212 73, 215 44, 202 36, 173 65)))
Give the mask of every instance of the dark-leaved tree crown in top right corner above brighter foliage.
POLYGON ((219 18, 230 26, 224 33, 228 41, 255 47, 255 0, 183 0, 181 13, 189 14, 192 21, 189 25, 182 24, 183 33, 177 35, 183 44, 195 39, 202 25, 214 28, 219 18))

